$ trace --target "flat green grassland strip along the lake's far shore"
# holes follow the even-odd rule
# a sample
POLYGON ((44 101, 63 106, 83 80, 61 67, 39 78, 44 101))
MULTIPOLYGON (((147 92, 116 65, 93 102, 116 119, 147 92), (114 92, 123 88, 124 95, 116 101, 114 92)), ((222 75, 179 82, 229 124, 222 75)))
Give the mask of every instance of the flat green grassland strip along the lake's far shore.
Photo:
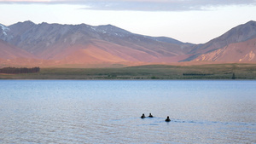
POLYGON ((256 64, 148 65, 121 68, 41 68, 0 79, 256 79, 256 64), (233 74, 234 73, 234 74, 233 74))

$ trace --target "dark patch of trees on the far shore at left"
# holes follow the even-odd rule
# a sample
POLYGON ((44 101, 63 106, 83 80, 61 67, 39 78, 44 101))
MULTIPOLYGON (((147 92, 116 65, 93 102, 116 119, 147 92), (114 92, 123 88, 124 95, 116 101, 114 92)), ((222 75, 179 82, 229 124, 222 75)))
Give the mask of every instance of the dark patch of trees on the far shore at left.
POLYGON ((7 73, 7 74, 20 74, 20 73, 35 73, 40 72, 40 67, 3 67, 0 69, 0 73, 7 73))

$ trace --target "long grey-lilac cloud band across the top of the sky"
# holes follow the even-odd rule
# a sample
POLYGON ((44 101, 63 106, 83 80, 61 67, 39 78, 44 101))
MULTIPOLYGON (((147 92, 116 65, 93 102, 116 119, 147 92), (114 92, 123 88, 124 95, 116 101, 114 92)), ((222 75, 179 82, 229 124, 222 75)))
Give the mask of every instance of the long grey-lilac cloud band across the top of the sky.
POLYGON ((0 0, 0 3, 79 4, 81 9, 133 11, 207 10, 228 5, 256 5, 256 0, 0 0))

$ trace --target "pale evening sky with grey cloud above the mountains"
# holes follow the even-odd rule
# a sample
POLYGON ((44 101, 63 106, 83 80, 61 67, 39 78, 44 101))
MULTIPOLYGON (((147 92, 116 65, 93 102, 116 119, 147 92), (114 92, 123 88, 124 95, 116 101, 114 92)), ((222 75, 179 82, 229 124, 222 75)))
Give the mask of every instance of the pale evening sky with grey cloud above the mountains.
POLYGON ((32 20, 118 26, 184 43, 207 43, 231 28, 256 21, 256 0, 0 0, 0 23, 32 20))

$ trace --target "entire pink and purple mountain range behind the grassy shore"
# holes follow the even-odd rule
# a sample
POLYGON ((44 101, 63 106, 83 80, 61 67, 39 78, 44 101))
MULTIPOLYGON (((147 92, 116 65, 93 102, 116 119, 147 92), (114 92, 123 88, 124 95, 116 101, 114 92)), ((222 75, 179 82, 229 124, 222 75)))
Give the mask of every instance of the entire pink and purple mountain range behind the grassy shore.
POLYGON ((236 26, 207 43, 193 44, 139 35, 112 25, 24 21, 0 24, 0 52, 0 67, 256 62, 256 22, 236 26))

